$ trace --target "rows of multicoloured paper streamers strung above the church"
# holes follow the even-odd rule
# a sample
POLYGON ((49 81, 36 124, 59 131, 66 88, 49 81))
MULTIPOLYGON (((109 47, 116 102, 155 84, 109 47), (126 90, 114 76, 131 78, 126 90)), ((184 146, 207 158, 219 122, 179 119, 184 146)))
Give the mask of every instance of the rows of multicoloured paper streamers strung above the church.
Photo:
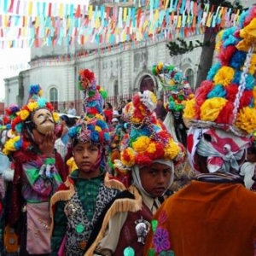
POLYGON ((186 38, 207 27, 236 26, 241 15, 226 7, 213 11, 209 3, 202 9, 192 0, 112 2, 0 0, 0 49, 186 38))

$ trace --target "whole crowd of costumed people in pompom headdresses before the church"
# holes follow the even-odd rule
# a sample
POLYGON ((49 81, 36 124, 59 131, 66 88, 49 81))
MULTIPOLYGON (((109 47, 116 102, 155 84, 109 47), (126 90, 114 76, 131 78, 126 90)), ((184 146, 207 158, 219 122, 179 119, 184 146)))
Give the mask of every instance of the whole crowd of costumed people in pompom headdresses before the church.
POLYGON ((168 102, 144 90, 112 106, 83 69, 71 120, 32 85, 0 126, 0 254, 255 255, 255 31, 252 7, 219 33, 195 94, 154 65, 168 102))

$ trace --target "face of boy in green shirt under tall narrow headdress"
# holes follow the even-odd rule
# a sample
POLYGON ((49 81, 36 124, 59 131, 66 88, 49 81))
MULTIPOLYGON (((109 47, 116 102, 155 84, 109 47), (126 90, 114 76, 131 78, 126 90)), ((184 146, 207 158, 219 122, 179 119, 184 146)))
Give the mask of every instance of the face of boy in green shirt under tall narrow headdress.
POLYGON ((79 167, 79 172, 89 173, 95 171, 92 166, 96 163, 99 148, 90 143, 79 143, 73 148, 73 158, 79 167))

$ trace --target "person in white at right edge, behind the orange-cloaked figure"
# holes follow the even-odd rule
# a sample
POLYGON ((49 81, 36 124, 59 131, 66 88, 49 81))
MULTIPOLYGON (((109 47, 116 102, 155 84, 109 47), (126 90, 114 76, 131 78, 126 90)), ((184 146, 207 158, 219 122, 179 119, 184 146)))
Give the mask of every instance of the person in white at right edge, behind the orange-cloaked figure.
POLYGON ((252 140, 252 146, 247 148, 246 162, 241 165, 239 172, 247 189, 251 189, 253 186, 253 176, 256 167, 256 144, 254 142, 254 136, 252 137, 252 140))

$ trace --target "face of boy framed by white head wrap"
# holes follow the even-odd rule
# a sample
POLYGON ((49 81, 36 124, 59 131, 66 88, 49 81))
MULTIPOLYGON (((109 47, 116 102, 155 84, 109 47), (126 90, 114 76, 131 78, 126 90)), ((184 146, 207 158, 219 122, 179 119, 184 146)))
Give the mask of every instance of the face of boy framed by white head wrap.
POLYGON ((172 167, 165 164, 154 163, 140 169, 143 189, 153 197, 163 195, 172 177, 172 167))

